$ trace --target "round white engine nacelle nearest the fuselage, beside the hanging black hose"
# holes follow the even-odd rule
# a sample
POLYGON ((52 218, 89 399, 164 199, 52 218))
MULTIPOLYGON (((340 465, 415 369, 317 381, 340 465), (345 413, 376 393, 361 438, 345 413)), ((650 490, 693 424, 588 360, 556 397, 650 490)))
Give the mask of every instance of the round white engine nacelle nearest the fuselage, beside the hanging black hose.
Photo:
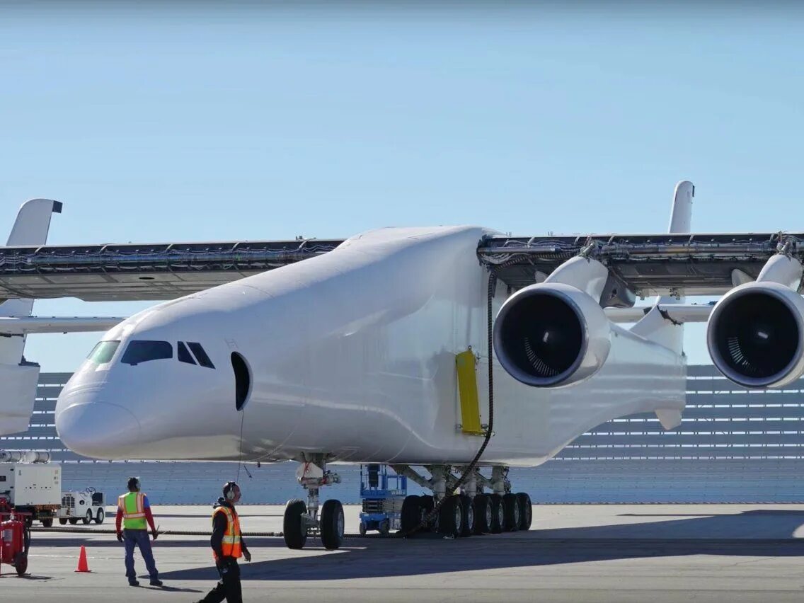
POLYGON ((611 348, 611 323, 588 293, 563 283, 520 289, 494 322, 494 351, 523 384, 552 388, 588 379, 611 348))

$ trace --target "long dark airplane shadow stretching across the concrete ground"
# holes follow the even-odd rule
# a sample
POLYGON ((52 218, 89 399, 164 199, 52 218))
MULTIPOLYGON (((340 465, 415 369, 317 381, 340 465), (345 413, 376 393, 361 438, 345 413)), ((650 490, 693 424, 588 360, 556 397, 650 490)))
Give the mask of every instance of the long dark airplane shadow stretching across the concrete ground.
MULTIPOLYGON (((634 515, 630 515, 634 516, 634 515)), ((650 517, 651 515, 646 515, 650 517)), ((662 515, 672 517, 673 515, 662 515)), ((683 517, 683 515, 681 515, 683 517)), ((804 556, 804 539, 793 539, 804 511, 747 511, 648 523, 531 529, 467 539, 347 539, 325 552, 309 539, 310 554, 240 564, 244 580, 345 580, 443 572, 534 567, 665 556, 804 556)), ((273 539, 273 546, 282 539, 273 539)), ((165 580, 212 580, 215 569, 166 572, 165 580)))

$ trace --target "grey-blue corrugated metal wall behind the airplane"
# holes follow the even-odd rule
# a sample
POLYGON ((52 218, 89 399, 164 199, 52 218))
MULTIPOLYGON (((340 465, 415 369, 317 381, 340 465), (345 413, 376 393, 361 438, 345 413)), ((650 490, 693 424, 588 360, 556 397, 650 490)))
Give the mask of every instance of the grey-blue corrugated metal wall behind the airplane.
MULTIPOLYGON (((117 492, 125 478, 143 478, 154 503, 207 503, 236 477, 233 463, 88 461, 59 441, 55 399, 68 373, 43 373, 26 433, 0 437, 0 449, 51 450, 64 461, 65 489, 94 486, 117 492)), ((511 470, 515 490, 535 503, 802 503, 804 502, 804 379, 778 391, 749 392, 714 367, 689 367, 687 410, 665 432, 655 416, 639 414, 600 425, 535 469, 511 470)), ((249 502, 284 503, 303 494, 295 466, 241 470, 249 502)), ((357 502, 355 467, 338 467, 344 483, 322 494, 357 502)))

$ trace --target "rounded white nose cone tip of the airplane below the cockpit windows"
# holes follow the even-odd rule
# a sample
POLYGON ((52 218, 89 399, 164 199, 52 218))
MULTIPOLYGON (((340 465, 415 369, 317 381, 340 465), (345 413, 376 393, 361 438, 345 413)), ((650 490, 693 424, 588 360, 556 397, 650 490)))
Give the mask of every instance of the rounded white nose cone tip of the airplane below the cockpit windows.
POLYGON ((140 423, 126 408, 108 402, 71 404, 55 417, 61 441, 86 457, 125 458, 140 443, 140 423))

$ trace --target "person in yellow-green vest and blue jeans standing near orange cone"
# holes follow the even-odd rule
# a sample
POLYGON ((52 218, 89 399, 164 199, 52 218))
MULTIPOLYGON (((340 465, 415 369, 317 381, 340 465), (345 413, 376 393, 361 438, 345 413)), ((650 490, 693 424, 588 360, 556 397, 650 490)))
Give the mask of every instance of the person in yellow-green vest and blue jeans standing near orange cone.
POLYGON ((151 586, 162 586, 154 563, 154 553, 148 540, 146 522, 151 528, 154 540, 159 533, 154 527, 154 515, 151 514, 148 497, 140 491, 140 478, 129 478, 129 491, 117 498, 117 518, 115 531, 118 542, 125 542, 125 576, 129 586, 139 586, 137 572, 134 572, 134 547, 137 546, 146 562, 150 574, 151 586), (122 530, 121 530, 122 523, 122 530))

